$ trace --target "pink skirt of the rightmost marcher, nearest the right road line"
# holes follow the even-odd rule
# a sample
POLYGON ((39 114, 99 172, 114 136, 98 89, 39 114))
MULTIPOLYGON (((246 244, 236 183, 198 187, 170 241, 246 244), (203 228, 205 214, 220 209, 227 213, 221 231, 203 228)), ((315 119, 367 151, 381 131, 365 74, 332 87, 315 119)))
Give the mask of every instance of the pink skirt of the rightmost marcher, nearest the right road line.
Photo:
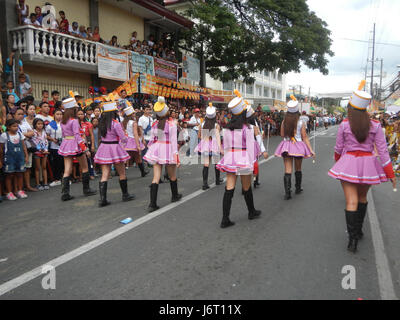
POLYGON ((329 170, 328 175, 357 184, 380 184, 388 181, 380 161, 374 155, 356 157, 344 154, 329 170))

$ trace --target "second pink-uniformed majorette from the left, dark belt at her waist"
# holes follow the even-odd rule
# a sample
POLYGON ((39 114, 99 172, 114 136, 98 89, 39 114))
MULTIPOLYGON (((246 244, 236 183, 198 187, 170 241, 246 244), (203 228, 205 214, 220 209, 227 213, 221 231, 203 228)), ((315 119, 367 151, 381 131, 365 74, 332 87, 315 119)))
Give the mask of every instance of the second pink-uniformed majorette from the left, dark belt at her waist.
POLYGON ((120 141, 126 141, 126 136, 121 123, 117 119, 118 108, 116 102, 105 102, 103 104, 103 113, 99 123, 101 143, 94 157, 94 162, 101 165, 99 207, 104 207, 110 204, 110 202, 107 201, 107 181, 112 165, 114 165, 119 175, 122 201, 135 199, 134 195, 128 193, 125 161, 129 160, 130 157, 120 145, 120 141))

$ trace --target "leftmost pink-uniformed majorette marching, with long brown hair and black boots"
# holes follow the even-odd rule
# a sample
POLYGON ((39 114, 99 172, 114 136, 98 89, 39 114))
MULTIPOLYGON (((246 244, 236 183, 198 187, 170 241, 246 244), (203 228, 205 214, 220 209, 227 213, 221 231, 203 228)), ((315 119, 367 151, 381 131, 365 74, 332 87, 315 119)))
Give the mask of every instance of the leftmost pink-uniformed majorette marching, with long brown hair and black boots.
MULTIPOLYGON (((64 176, 62 179, 62 201, 73 199, 69 194, 70 180, 73 168, 73 158, 75 157, 82 169, 83 194, 85 196, 95 195, 97 192, 90 189, 90 174, 87 161, 87 150, 85 142, 81 136, 81 128, 77 119, 78 105, 75 98, 71 97, 63 100, 64 115, 61 121, 62 143, 58 149, 58 154, 64 157, 64 176)), ((89 156, 89 155, 88 155, 89 156)))

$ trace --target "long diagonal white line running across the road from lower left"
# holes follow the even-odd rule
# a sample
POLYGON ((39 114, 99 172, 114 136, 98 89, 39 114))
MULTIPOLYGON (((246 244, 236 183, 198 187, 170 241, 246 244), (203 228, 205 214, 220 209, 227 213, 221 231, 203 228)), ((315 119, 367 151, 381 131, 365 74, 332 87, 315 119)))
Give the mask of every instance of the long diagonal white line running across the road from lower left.
MULTIPOLYGON (((274 158, 275 158, 275 156, 270 156, 268 159, 264 159, 264 160, 260 161, 259 165, 264 164, 274 158)), ((224 179, 224 181, 225 181, 225 179, 224 179)), ((48 262, 44 263, 43 265, 41 265, 31 271, 26 272, 17 278, 14 278, 12 280, 9 280, 9 281, 3 283, 2 285, 0 285, 0 296, 6 294, 7 292, 10 292, 11 290, 14 290, 15 288, 17 288, 19 286, 22 286, 25 283, 28 283, 28 282, 36 279, 37 277, 40 277, 42 275, 42 270, 43 270, 44 266, 50 265, 54 268, 57 268, 60 265, 66 263, 68 261, 71 261, 71 260, 83 255, 84 253, 89 252, 89 251, 101 246, 102 244, 104 244, 108 241, 111 241, 111 240, 117 238, 118 236, 142 225, 143 223, 148 222, 148 221, 180 206, 181 204, 183 204, 205 192, 210 191, 211 189, 215 188, 215 186, 216 186, 215 183, 213 183, 210 185, 210 189, 208 189, 208 190, 195 191, 195 192, 187 195, 186 197, 183 197, 179 202, 171 203, 157 211, 151 212, 151 213, 135 220, 134 222, 132 222, 130 224, 124 225, 123 227, 120 227, 114 231, 111 231, 110 233, 107 233, 106 235, 104 235, 100 238, 97 238, 91 242, 88 242, 73 251, 63 254, 62 256, 60 256, 58 258, 48 261, 48 262)))

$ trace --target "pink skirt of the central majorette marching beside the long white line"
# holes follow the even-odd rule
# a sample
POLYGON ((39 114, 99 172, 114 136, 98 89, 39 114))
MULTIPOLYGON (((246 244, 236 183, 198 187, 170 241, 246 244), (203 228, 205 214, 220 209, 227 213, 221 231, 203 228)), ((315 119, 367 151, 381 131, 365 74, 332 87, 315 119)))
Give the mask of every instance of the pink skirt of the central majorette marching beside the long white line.
POLYGON ((256 161, 256 158, 249 155, 247 150, 226 151, 224 157, 218 162, 217 169, 236 175, 250 175, 253 173, 256 161))

